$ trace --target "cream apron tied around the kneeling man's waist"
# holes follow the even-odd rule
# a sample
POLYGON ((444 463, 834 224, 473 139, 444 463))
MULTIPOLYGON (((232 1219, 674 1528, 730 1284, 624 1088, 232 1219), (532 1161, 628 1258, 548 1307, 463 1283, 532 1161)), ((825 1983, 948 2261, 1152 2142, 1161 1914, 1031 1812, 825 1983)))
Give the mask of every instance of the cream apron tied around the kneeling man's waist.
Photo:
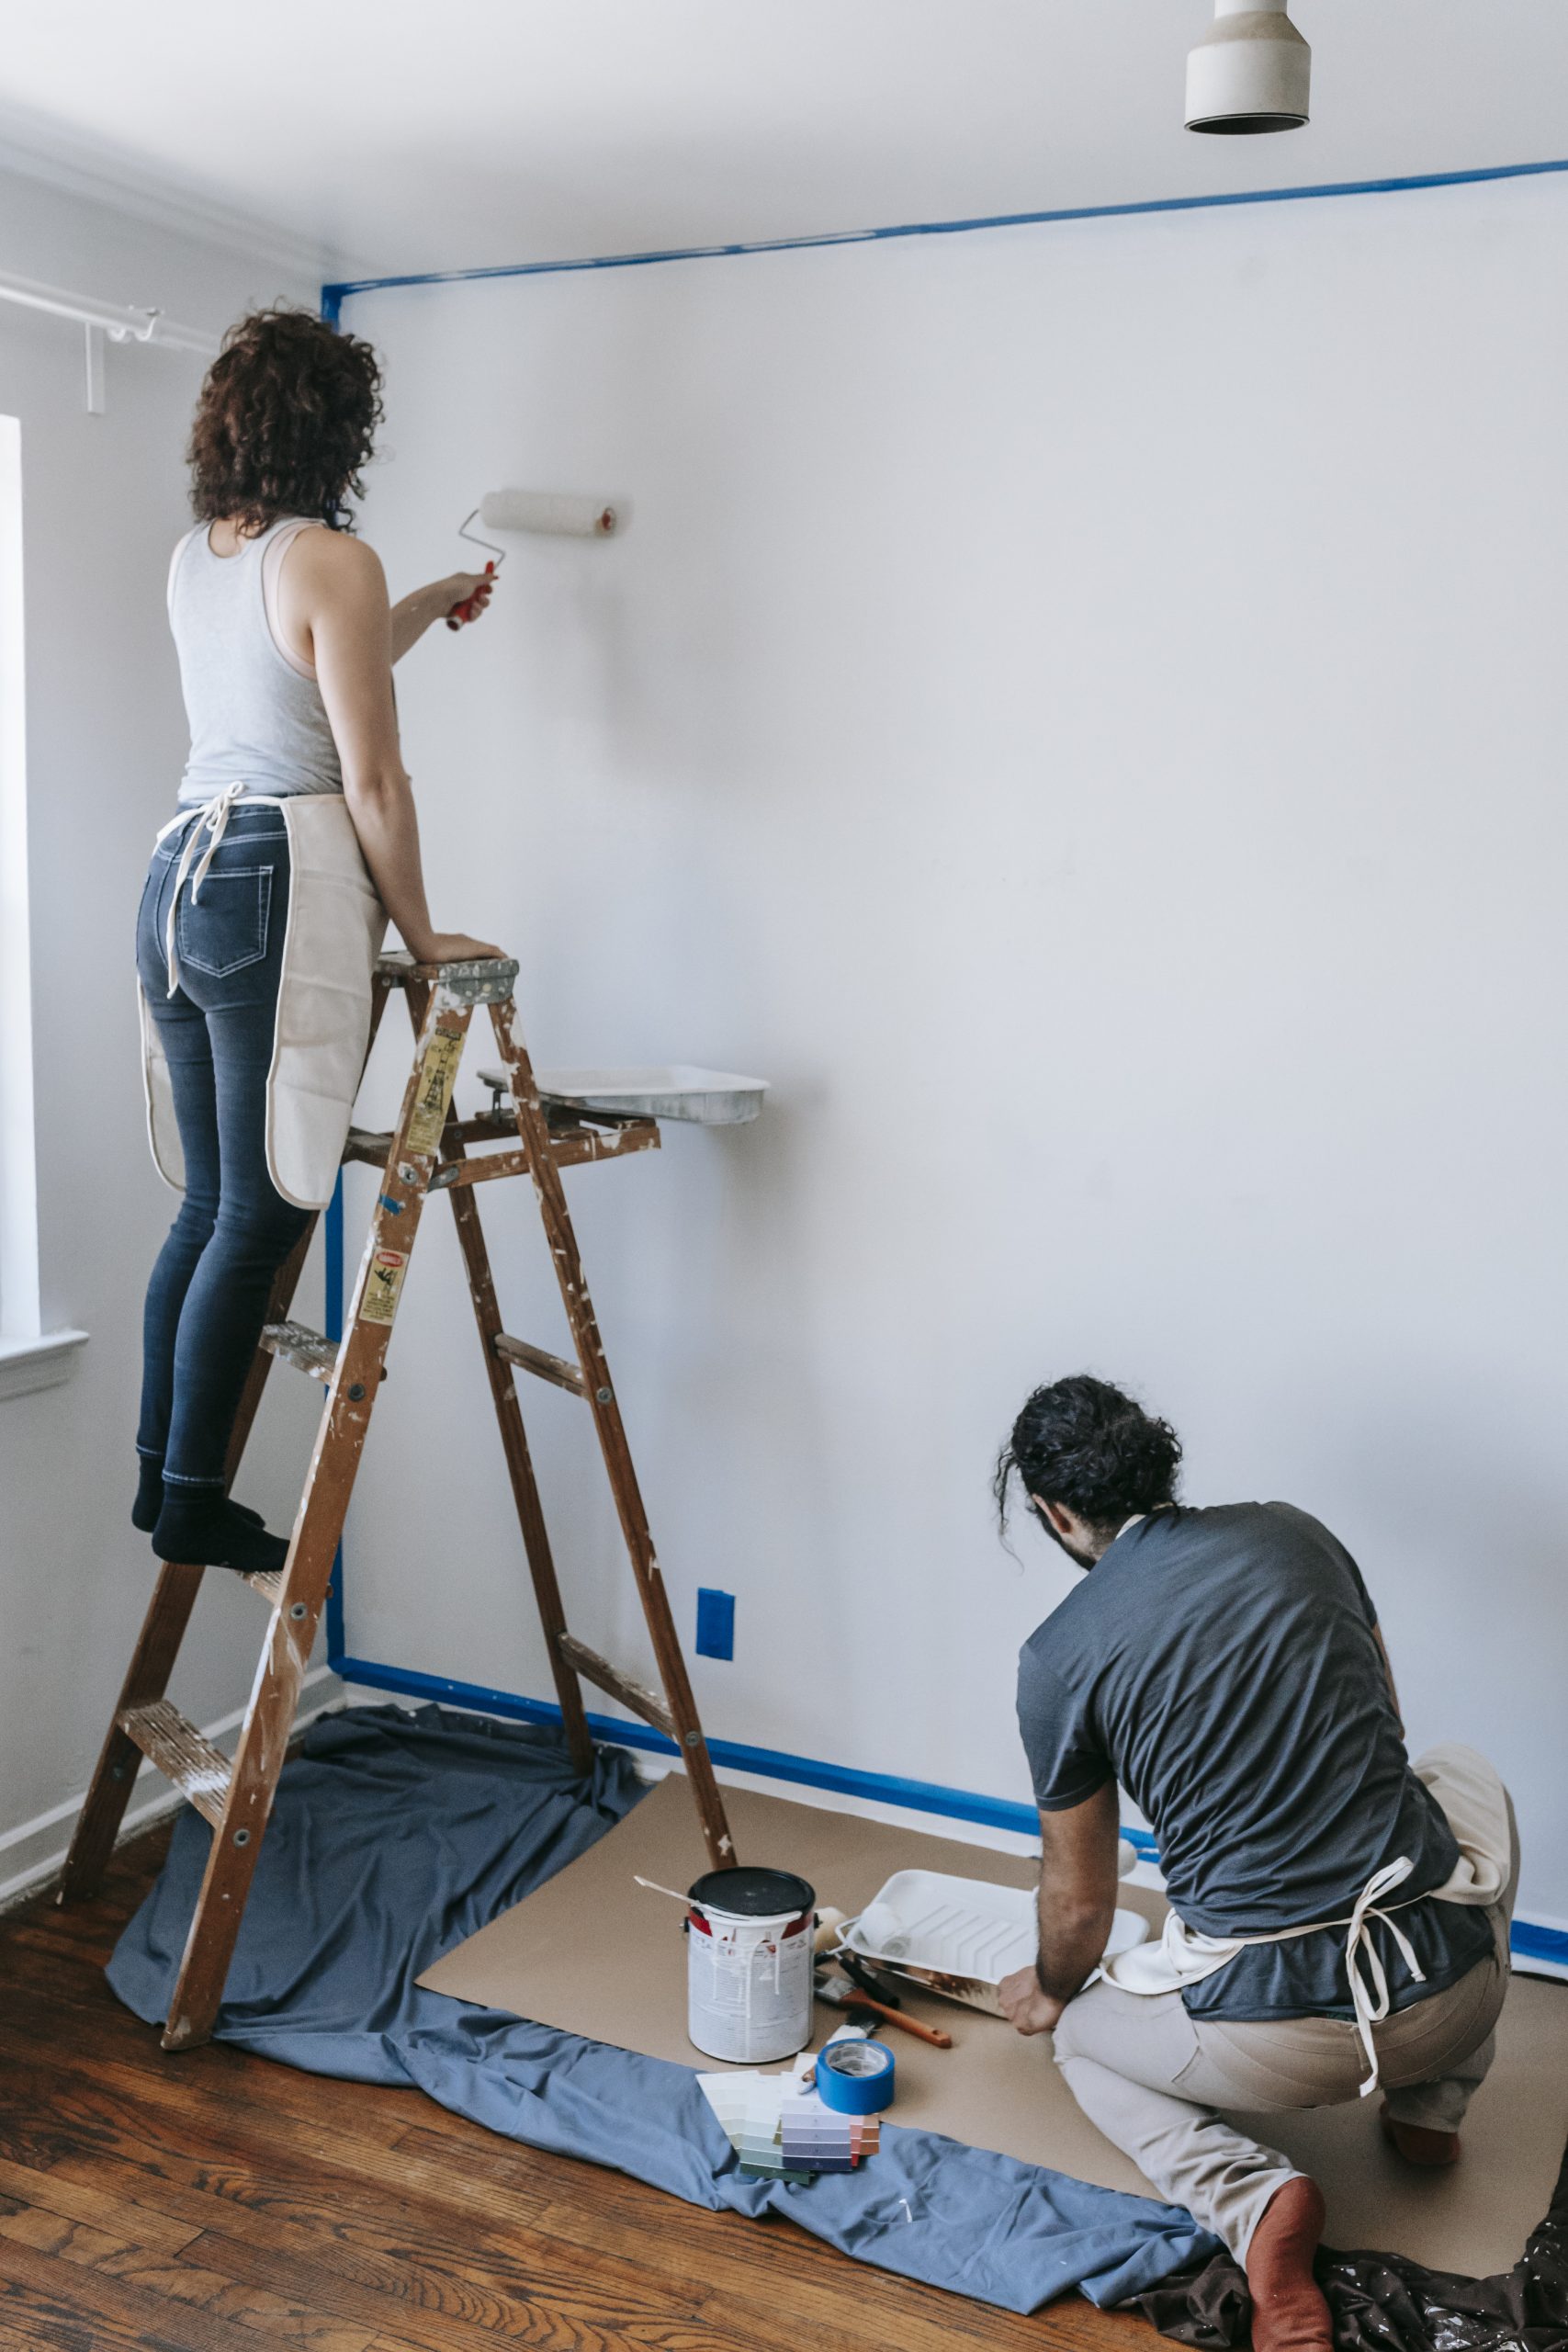
POLYGON ((1415 1983, 1422 1985, 1425 1976, 1415 1962, 1415 1952, 1392 1915, 1408 1910, 1410 1900, 1465 1903, 1472 1910, 1490 1910, 1490 1905, 1502 1900, 1514 1870, 1507 1792, 1495 1766, 1483 1755, 1474 1748, 1462 1748, 1458 1740, 1448 1740, 1441 1748, 1429 1748, 1410 1769, 1436 1797, 1460 1849, 1453 1877, 1441 1886, 1432 1886, 1425 1896, 1408 1896, 1406 1903, 1380 1907, 1382 1898, 1403 1886, 1415 1867, 1408 1856, 1399 1856, 1399 1860, 1373 1872, 1347 1919, 1316 1919, 1309 1926, 1276 1929, 1272 1936, 1201 1936, 1171 1912, 1159 1943, 1133 1945, 1131 1952, 1117 1952, 1114 1959, 1103 1962, 1100 1973, 1105 1980, 1117 1985, 1119 1992, 1180 1992, 1182 1985, 1199 1985, 1206 1976, 1215 1976, 1248 1943, 1291 1943, 1295 1936, 1316 1936, 1321 1929, 1345 1929, 1349 2006, 1368 2065, 1368 2077, 1361 2084, 1361 2098, 1366 2098, 1368 2091, 1378 2089, 1373 2025, 1380 2025, 1389 2013, 1387 1976, 1366 1922, 1382 1919, 1403 1952, 1415 1983))

